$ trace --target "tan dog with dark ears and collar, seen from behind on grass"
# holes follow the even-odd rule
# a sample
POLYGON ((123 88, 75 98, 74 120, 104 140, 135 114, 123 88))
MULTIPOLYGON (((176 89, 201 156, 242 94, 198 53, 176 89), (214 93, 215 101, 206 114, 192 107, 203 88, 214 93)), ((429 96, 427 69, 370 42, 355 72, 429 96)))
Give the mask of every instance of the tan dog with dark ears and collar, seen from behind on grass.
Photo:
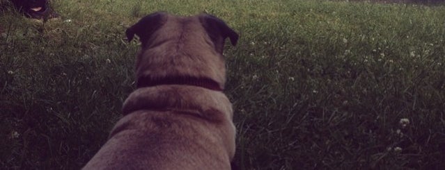
POLYGON ((221 19, 155 12, 126 31, 141 40, 137 87, 84 169, 231 169, 235 126, 222 51, 238 35, 221 19))

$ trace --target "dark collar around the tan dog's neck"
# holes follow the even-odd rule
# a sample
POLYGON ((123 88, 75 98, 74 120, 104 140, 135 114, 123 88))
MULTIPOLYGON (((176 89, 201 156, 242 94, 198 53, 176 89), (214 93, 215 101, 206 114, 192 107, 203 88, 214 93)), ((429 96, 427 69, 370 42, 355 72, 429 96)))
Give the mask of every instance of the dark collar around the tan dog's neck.
POLYGON ((210 78, 195 78, 189 76, 169 76, 165 78, 151 78, 141 76, 137 79, 136 87, 153 87, 157 85, 192 85, 203 87, 208 90, 223 91, 219 83, 210 78))

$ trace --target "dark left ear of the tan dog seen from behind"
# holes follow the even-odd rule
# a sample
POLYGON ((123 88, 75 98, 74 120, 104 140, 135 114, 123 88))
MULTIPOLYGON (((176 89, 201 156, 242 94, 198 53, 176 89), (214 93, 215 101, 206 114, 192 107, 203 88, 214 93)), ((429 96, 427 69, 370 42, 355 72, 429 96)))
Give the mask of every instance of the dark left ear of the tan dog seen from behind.
POLYGON ((125 34, 127 35, 128 42, 133 40, 134 34, 138 35, 141 39, 141 42, 144 43, 145 40, 153 34, 159 26, 162 25, 162 16, 164 16, 164 12, 154 12, 146 17, 143 17, 136 24, 127 28, 125 34))

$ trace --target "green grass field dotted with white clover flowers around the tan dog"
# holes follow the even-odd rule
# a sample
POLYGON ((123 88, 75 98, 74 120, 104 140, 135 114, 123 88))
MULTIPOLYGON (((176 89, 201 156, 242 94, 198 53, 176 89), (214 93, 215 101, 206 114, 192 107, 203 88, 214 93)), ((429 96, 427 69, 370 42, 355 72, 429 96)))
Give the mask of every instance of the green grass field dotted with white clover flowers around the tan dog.
POLYGON ((54 1, 0 6, 0 169, 79 169, 134 90, 125 29, 209 12, 226 46, 241 169, 445 166, 445 6, 303 0, 54 1))

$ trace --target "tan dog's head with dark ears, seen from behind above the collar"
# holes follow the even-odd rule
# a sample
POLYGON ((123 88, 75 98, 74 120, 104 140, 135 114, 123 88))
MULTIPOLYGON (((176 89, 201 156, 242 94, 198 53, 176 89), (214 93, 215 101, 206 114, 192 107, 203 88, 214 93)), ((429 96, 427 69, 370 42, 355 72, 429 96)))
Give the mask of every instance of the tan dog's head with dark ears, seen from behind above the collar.
MULTIPOLYGON (((224 88, 222 56, 226 38, 233 46, 238 35, 224 21, 208 14, 178 17, 155 12, 143 17, 125 32, 131 41, 141 41, 136 59, 136 77, 153 79, 213 80, 224 88)), ((166 80, 164 80, 166 81, 166 80)))

